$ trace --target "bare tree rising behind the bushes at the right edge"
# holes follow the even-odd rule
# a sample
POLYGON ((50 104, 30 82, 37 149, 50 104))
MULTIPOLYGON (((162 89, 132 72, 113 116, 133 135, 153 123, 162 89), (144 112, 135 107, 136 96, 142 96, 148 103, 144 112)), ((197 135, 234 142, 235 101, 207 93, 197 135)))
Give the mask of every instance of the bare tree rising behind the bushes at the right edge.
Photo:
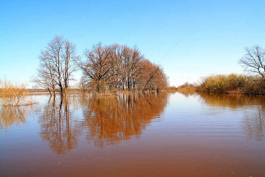
POLYGON ((238 63, 249 73, 260 74, 265 80, 265 50, 261 46, 254 45, 251 47, 245 47, 244 56, 238 61, 238 63))

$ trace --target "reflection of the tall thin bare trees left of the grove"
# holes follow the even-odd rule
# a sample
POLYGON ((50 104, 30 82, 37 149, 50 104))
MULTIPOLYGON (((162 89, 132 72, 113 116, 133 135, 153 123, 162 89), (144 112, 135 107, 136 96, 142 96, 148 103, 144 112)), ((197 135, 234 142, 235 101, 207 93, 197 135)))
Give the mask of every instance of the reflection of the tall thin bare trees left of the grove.
POLYGON ((58 102, 59 104, 56 104, 54 98, 44 107, 39 119, 40 136, 56 154, 65 154, 77 147, 82 126, 81 122, 73 119, 68 99, 60 99, 58 102))

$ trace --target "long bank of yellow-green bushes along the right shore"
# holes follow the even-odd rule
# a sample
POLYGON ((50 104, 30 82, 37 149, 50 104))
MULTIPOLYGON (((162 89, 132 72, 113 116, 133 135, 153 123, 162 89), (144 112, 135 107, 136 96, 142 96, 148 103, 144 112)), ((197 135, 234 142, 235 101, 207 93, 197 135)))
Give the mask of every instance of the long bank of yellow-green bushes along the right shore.
POLYGON ((212 74, 201 78, 201 80, 196 91, 249 95, 265 94, 265 81, 260 76, 212 74))

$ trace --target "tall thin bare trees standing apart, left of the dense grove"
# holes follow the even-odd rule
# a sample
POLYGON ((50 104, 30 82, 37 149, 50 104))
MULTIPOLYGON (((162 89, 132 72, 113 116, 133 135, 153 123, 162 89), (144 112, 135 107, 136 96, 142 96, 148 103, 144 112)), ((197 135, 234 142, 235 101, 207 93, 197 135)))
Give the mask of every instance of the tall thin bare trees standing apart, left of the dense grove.
POLYGON ((45 50, 41 51, 39 68, 37 74, 31 77, 31 82, 36 84, 35 87, 47 88, 50 94, 52 89, 54 95, 58 86, 61 96, 64 96, 69 80, 76 71, 76 60, 79 56, 75 51, 75 44, 65 40, 63 36, 55 35, 47 43, 45 50))

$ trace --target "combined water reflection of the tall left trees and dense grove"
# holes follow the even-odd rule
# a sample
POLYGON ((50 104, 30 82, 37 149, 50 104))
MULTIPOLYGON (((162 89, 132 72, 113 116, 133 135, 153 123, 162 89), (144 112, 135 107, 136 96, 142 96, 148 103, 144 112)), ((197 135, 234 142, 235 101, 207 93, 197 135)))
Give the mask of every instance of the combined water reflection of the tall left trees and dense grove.
POLYGON ((44 106, 39 118, 40 136, 56 154, 65 154, 77 147, 82 132, 96 147, 113 145, 132 137, 138 139, 152 119, 161 115, 168 97, 168 93, 159 93, 52 99, 44 106), (83 108, 83 117, 76 119, 71 110, 79 107, 83 108))

